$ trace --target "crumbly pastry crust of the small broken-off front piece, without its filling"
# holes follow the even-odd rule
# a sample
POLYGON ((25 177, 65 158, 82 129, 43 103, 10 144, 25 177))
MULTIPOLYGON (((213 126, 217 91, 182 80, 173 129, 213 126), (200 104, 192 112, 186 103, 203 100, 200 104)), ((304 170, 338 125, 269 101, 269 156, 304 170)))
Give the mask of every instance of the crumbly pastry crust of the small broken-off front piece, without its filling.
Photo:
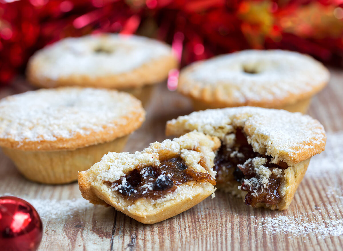
POLYGON ((152 143, 142 152, 108 153, 87 171, 79 172, 78 182, 82 196, 93 204, 111 205, 117 210, 145 224, 154 224, 173 217, 196 205, 214 192, 209 182, 188 181, 177 186, 174 192, 159 199, 126 199, 111 190, 104 181, 115 182, 133 169, 158 166, 161 161, 180 155, 189 170, 215 176, 214 152, 220 146, 216 137, 191 132, 173 141, 152 143))

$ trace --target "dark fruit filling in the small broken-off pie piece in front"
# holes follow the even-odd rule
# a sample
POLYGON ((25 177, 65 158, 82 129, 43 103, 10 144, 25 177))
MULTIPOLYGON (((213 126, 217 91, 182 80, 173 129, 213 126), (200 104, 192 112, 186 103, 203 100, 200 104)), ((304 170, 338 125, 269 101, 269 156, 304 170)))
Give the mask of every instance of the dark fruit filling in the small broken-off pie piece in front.
POLYGON ((215 179, 206 173, 190 170, 180 157, 161 161, 159 166, 143 166, 133 169, 127 175, 115 182, 105 181, 112 190, 120 193, 126 199, 140 198, 158 199, 187 182, 210 182, 215 185, 215 179))

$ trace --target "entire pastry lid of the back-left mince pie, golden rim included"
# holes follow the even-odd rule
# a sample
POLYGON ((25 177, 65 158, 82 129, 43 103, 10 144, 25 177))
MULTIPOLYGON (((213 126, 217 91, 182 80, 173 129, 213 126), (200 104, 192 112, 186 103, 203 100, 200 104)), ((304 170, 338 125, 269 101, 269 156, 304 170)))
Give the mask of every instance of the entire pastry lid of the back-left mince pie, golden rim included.
POLYGON ((29 60, 27 77, 43 87, 128 88, 163 81, 176 66, 167 44, 108 33, 65 38, 37 51, 29 60))

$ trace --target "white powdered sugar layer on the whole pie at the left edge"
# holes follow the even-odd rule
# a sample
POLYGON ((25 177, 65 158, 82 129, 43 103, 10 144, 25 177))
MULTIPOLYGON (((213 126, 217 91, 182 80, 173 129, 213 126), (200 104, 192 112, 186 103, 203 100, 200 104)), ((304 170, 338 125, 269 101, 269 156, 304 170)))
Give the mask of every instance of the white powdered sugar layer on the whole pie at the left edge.
POLYGON ((120 123, 138 106, 129 94, 105 89, 67 87, 17 94, 0 101, 0 138, 55 141, 87 135, 120 123))

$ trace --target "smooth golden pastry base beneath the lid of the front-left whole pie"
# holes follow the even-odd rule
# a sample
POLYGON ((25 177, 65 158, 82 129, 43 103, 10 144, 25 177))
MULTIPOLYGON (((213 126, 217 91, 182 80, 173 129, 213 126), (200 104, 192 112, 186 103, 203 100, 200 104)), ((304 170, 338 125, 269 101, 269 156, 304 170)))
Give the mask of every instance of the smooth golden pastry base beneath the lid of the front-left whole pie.
POLYGON ((129 135, 114 141, 57 151, 23 151, 2 147, 17 169, 29 180, 44 184, 76 181, 78 172, 90 168, 108 152, 122 152, 129 135))

